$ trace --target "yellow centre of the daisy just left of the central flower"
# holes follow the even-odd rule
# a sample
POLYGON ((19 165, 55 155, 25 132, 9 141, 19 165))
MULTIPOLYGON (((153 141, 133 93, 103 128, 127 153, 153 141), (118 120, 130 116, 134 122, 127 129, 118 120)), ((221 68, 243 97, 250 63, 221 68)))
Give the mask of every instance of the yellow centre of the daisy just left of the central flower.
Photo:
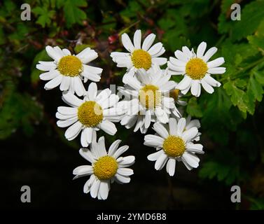
POLYGON ((78 120, 87 126, 94 127, 103 120, 102 107, 94 101, 88 101, 78 107, 78 120))

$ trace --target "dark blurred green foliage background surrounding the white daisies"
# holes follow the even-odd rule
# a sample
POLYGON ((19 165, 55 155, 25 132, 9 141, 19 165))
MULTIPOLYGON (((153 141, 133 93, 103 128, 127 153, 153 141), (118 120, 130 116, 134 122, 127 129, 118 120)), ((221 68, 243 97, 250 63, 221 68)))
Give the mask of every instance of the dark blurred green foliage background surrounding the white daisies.
MULTIPOLYGON (((264 1, 113 0, 10 1, 0 3, 0 179, 2 208, 51 209, 264 209, 264 1), (22 3, 31 20, 22 21, 22 3), (232 3, 242 8, 232 21, 232 3), (186 112, 202 124, 205 154, 191 172, 179 164, 169 179, 155 171, 146 156, 144 135, 118 125, 115 137, 135 155, 130 184, 113 184, 108 200, 83 194, 85 178, 71 181, 72 170, 87 162, 78 155, 79 138, 64 139, 56 126, 59 88, 43 90, 36 62, 48 60, 46 45, 77 53, 90 46, 104 69, 100 88, 122 85, 125 70, 116 68, 110 52, 124 50, 120 34, 141 29, 165 45, 165 56, 201 41, 216 45, 227 71, 214 76, 222 85, 214 94, 189 94, 186 112), (32 203, 20 202, 20 188, 32 189, 32 203), (230 202, 238 185, 242 202, 230 202)), ((181 77, 180 77, 181 78, 181 77)), ((174 80, 179 80, 175 78, 174 80)), ((88 82, 89 83, 89 82, 88 82)), ((88 87, 88 83, 85 87, 88 87)), ((187 115, 185 113, 185 116, 187 115)), ((151 131, 149 131, 151 133, 151 131)))

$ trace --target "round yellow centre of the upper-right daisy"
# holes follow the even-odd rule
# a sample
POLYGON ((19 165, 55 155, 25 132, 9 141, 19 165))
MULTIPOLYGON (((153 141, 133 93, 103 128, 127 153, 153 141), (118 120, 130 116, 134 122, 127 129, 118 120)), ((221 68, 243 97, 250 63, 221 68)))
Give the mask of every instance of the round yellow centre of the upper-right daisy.
POLYGON ((186 64, 186 74, 192 79, 202 79, 207 73, 207 64, 200 58, 193 58, 186 64))

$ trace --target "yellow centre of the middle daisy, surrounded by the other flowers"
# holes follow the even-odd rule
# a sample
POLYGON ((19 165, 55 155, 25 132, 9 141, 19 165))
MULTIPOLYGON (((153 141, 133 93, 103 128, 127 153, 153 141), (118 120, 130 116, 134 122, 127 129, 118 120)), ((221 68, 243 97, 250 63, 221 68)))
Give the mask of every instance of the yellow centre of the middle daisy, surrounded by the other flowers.
POLYGON ((139 102, 146 109, 154 109, 161 103, 161 92, 155 85, 145 85, 139 90, 139 102))

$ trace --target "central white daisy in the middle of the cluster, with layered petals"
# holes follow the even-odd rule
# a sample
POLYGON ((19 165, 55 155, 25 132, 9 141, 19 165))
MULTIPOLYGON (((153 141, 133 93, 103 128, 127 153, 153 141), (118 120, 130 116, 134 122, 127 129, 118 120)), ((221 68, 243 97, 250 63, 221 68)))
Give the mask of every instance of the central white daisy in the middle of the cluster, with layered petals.
POLYGON ((180 116, 174 99, 169 97, 169 90, 175 87, 174 81, 169 80, 170 75, 164 75, 161 69, 139 69, 137 77, 130 78, 125 87, 118 87, 129 99, 121 125, 127 128, 135 125, 134 132, 140 129, 141 133, 146 133, 151 122, 168 123, 172 109, 180 116))

